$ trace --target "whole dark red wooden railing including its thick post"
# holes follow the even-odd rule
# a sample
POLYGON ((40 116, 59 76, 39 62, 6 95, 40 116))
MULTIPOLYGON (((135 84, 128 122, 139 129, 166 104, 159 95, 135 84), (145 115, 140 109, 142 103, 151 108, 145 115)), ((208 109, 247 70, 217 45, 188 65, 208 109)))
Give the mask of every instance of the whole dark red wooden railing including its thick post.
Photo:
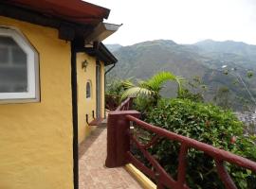
POLYGON ((108 130, 107 130, 107 167, 123 166, 126 163, 133 163, 140 171, 148 177, 156 180, 157 188, 162 189, 165 187, 174 189, 188 189, 186 184, 186 156, 189 148, 195 148, 203 151, 213 158, 216 164, 216 170, 220 179, 225 184, 226 188, 236 189, 233 180, 229 176, 224 163, 236 164, 244 167, 253 172, 256 172, 256 163, 246 158, 237 156, 228 151, 198 142, 191 138, 178 135, 167 129, 161 129, 145 123, 138 119, 139 112, 136 111, 121 111, 128 110, 130 107, 130 99, 124 101, 119 107, 119 110, 110 112, 108 115, 108 130), (129 104, 129 105, 128 105, 129 104), (141 144, 137 137, 130 132, 130 122, 136 123, 135 125, 141 129, 146 129, 155 133, 155 137, 147 144, 141 144), (148 152, 150 146, 154 146, 160 138, 176 141, 181 144, 178 156, 178 174, 177 180, 174 180, 164 168, 155 160, 155 158, 148 152), (137 148, 142 152, 143 156, 151 163, 153 169, 148 168, 143 163, 139 162, 137 158, 130 151, 130 141, 134 143, 137 148))

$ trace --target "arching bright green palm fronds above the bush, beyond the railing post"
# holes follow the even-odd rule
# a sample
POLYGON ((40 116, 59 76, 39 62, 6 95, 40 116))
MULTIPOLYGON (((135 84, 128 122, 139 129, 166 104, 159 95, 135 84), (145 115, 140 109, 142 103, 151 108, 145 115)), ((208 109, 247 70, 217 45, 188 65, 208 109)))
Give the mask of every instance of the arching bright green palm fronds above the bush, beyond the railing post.
POLYGON ((121 98, 132 96, 139 99, 147 99, 153 105, 156 105, 157 101, 160 99, 160 91, 164 87, 164 83, 167 81, 175 81, 178 84, 178 93, 182 90, 183 77, 174 76, 171 72, 160 72, 155 76, 137 82, 137 85, 131 81, 124 81, 123 86, 125 88, 124 93, 121 98))

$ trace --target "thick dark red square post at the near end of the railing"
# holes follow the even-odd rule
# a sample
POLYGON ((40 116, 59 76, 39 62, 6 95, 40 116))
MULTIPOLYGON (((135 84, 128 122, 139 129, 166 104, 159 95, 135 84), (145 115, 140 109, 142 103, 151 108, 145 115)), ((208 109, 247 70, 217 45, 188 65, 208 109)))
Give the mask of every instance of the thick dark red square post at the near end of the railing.
POLYGON ((109 112, 107 120, 106 167, 118 167, 127 163, 126 153, 130 150, 130 121, 126 115, 139 117, 137 111, 109 112))

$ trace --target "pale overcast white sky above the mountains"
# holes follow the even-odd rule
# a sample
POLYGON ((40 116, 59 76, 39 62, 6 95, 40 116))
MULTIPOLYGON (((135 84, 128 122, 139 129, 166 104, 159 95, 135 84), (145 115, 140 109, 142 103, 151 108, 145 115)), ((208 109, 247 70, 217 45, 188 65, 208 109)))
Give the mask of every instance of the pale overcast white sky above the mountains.
POLYGON ((256 0, 85 0, 111 9, 106 23, 123 24, 103 43, 131 45, 206 39, 256 44, 256 0))

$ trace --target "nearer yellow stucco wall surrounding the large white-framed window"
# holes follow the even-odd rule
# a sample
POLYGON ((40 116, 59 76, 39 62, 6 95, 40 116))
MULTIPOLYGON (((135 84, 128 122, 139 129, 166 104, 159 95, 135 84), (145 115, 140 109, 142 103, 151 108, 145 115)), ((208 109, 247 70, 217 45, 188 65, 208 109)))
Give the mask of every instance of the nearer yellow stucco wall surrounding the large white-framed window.
POLYGON ((39 52, 41 102, 0 105, 0 189, 73 188, 70 44, 55 29, 0 17, 39 52))

